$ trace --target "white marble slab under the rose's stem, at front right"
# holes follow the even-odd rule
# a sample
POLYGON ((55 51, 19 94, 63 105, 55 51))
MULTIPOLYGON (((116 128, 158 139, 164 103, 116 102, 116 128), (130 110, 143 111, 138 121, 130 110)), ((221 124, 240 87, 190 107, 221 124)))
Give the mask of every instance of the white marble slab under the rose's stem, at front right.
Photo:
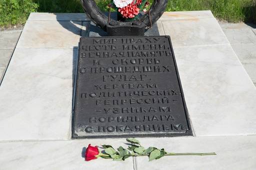
POLYGON ((216 156, 165 156, 148 162, 136 158, 136 170, 255 170, 256 136, 140 139, 174 153, 215 152, 216 156))

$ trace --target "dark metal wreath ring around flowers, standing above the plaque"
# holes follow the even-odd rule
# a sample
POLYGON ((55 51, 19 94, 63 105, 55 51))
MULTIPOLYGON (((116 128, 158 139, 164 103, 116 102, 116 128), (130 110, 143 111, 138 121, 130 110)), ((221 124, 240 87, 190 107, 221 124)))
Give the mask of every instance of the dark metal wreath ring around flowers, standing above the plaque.
POLYGON ((144 35, 144 30, 155 23, 166 7, 168 0, 154 0, 149 11, 135 21, 121 22, 109 18, 96 5, 94 0, 81 0, 87 16, 110 36, 144 35))

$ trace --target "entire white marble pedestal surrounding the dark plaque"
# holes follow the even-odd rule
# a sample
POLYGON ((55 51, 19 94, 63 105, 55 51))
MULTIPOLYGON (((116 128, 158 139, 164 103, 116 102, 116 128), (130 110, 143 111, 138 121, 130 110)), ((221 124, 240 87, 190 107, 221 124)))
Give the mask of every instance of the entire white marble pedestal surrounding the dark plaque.
POLYGON ((139 140, 217 156, 84 162, 88 144, 124 145, 124 139, 70 140, 77 47, 93 25, 83 13, 31 13, 0 86, 1 169, 255 169, 256 88, 212 13, 165 12, 155 26, 172 39, 194 134, 139 140))

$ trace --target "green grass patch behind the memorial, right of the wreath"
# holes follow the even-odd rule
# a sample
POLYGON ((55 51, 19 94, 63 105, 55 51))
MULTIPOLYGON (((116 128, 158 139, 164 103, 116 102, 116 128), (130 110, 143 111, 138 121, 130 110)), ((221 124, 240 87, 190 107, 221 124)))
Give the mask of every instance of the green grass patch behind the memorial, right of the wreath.
POLYGON ((230 22, 256 22, 256 0, 169 0, 166 10, 211 10, 215 17, 230 22))

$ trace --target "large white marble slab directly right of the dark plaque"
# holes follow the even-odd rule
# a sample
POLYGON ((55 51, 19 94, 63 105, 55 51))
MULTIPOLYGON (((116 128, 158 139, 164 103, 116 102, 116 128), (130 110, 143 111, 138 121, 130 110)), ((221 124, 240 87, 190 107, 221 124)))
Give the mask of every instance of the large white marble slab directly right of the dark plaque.
POLYGON ((174 48, 195 136, 256 134, 256 88, 230 45, 174 48))

